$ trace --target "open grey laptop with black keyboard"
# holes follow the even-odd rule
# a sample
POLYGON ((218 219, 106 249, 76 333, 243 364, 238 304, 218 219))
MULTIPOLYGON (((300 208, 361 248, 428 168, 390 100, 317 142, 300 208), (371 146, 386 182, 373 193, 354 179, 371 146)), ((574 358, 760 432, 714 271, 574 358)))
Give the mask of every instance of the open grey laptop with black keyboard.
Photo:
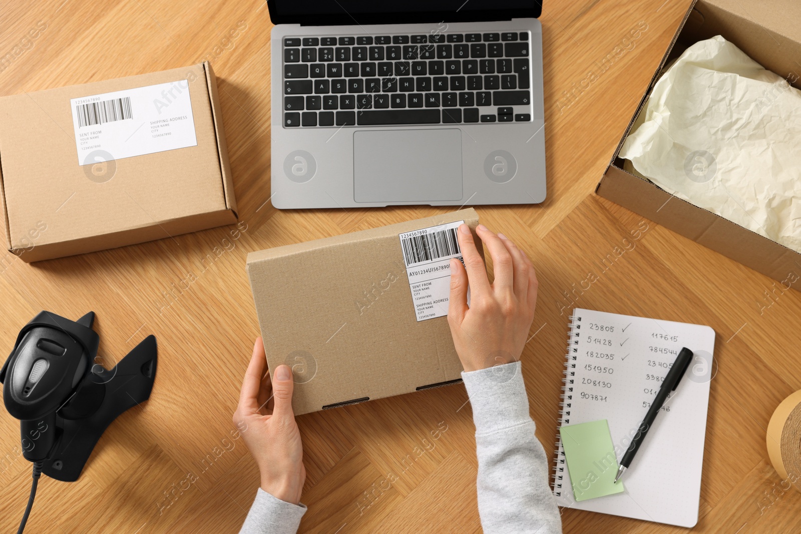
POLYGON ((268 0, 272 205, 545 200, 537 0, 268 0))

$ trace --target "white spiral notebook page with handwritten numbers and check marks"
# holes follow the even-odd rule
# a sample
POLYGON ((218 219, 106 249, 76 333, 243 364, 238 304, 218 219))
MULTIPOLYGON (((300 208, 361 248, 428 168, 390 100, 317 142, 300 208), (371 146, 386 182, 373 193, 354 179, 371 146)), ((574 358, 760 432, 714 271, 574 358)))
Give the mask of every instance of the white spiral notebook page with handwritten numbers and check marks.
POLYGON ((580 308, 570 321, 561 425, 606 419, 618 463, 678 351, 687 347, 694 356, 626 471, 624 492, 577 502, 561 440, 557 443, 557 504, 693 527, 698 522, 710 380, 717 369, 714 330, 580 308))

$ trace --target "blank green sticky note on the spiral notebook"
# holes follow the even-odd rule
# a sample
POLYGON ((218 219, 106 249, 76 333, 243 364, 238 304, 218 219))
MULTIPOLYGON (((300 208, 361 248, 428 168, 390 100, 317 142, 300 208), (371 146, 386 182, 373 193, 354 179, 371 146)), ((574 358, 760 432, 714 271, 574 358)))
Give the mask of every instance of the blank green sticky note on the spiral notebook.
POLYGON ((623 491, 623 481, 614 483, 618 459, 606 420, 560 427, 570 484, 577 501, 623 491))

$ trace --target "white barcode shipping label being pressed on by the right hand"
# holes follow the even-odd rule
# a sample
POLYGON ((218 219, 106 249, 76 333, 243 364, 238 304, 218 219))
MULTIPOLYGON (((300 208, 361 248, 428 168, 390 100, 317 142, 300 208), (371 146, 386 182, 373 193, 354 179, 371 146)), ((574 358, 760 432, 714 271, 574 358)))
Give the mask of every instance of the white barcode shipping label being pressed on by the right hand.
POLYGON ((400 234, 417 321, 448 315, 450 259, 461 260, 457 228, 465 221, 400 234))

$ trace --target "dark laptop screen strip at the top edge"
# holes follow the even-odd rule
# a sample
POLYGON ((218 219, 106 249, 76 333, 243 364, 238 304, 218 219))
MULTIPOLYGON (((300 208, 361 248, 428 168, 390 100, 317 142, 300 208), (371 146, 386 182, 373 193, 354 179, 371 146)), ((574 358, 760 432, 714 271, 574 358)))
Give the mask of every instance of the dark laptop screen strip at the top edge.
POLYGON ((268 0, 273 24, 328 26, 537 18, 539 0, 268 0))

